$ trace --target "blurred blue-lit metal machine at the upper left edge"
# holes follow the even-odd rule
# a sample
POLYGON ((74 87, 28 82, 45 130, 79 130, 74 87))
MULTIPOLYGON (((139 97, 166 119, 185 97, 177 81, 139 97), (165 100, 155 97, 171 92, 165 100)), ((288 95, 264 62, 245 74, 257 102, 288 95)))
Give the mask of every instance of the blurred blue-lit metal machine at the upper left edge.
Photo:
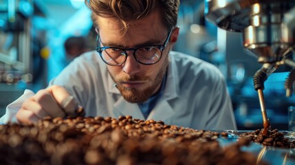
POLYGON ((12 85, 32 74, 32 1, 0 0, 0 83, 12 85))

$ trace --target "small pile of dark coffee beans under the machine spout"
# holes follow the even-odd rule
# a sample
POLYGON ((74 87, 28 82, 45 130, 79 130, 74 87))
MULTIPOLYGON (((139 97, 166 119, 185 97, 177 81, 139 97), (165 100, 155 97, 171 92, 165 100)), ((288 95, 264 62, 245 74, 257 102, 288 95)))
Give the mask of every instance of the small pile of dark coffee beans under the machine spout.
POLYGON ((253 142, 263 144, 264 146, 295 148, 295 140, 289 140, 278 129, 269 130, 267 136, 263 136, 263 129, 257 129, 256 131, 241 133, 240 137, 249 138, 253 142))

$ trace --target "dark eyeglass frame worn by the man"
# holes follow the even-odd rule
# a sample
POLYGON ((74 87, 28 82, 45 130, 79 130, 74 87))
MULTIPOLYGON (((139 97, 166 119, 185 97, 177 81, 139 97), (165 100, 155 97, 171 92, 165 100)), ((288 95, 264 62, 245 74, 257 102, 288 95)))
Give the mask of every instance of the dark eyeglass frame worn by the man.
MULTIPOLYGON (((160 58, 158 58, 158 61, 155 61, 155 63, 159 62, 162 58, 162 54, 163 54, 163 51, 164 49, 166 48, 167 46, 167 43, 171 37, 171 33, 173 31, 173 28, 171 28, 171 30, 169 30, 169 33, 168 33, 168 36, 167 36, 167 39, 165 40, 164 44, 163 45, 144 45, 142 47, 157 47, 160 51, 161 51, 161 54, 160 54, 160 58)), ((120 66, 122 65, 123 63, 126 62, 127 60, 127 57, 129 56, 129 54, 127 53, 127 51, 131 50, 132 51, 132 54, 135 58, 136 61, 138 61, 138 58, 135 56, 135 52, 136 50, 139 50, 141 49, 142 47, 137 47, 137 48, 122 48, 122 47, 113 47, 113 46, 104 46, 104 47, 100 47, 100 36, 98 34, 97 38, 96 38, 96 52, 98 52, 98 54, 100 55, 100 58, 102 58, 102 61, 104 61, 107 65, 111 65, 111 66, 120 66), (102 57, 102 51, 104 50, 107 50, 109 48, 114 48, 114 49, 119 49, 119 50, 122 50, 122 52, 124 52, 124 56, 125 56, 125 59, 124 61, 122 61, 122 63, 119 63, 117 65, 114 65, 114 64, 111 64, 111 63, 108 63, 107 61, 104 60, 104 58, 102 57)), ((140 61, 138 61, 138 63, 142 64, 142 65, 154 65, 155 63, 142 63, 140 61)))

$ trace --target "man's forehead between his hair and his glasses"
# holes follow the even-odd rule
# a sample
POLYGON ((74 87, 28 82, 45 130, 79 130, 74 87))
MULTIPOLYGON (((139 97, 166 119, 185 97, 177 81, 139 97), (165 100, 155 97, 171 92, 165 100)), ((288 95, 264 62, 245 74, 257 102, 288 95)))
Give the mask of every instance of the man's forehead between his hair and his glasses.
POLYGON ((122 22, 114 18, 97 17, 98 32, 100 38, 107 42, 108 40, 117 41, 120 39, 132 40, 142 39, 157 39, 166 34, 166 28, 160 19, 158 12, 153 12, 149 16, 135 21, 127 22, 127 32, 124 33, 122 22))

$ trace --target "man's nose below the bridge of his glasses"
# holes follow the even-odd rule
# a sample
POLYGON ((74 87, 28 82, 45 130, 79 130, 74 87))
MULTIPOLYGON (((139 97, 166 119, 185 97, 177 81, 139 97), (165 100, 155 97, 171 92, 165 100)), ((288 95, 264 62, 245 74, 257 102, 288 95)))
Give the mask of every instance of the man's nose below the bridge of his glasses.
POLYGON ((123 64, 123 72, 129 75, 134 75, 140 72, 140 63, 135 60, 135 57, 133 56, 133 51, 129 50, 127 51, 127 53, 127 59, 123 64))

